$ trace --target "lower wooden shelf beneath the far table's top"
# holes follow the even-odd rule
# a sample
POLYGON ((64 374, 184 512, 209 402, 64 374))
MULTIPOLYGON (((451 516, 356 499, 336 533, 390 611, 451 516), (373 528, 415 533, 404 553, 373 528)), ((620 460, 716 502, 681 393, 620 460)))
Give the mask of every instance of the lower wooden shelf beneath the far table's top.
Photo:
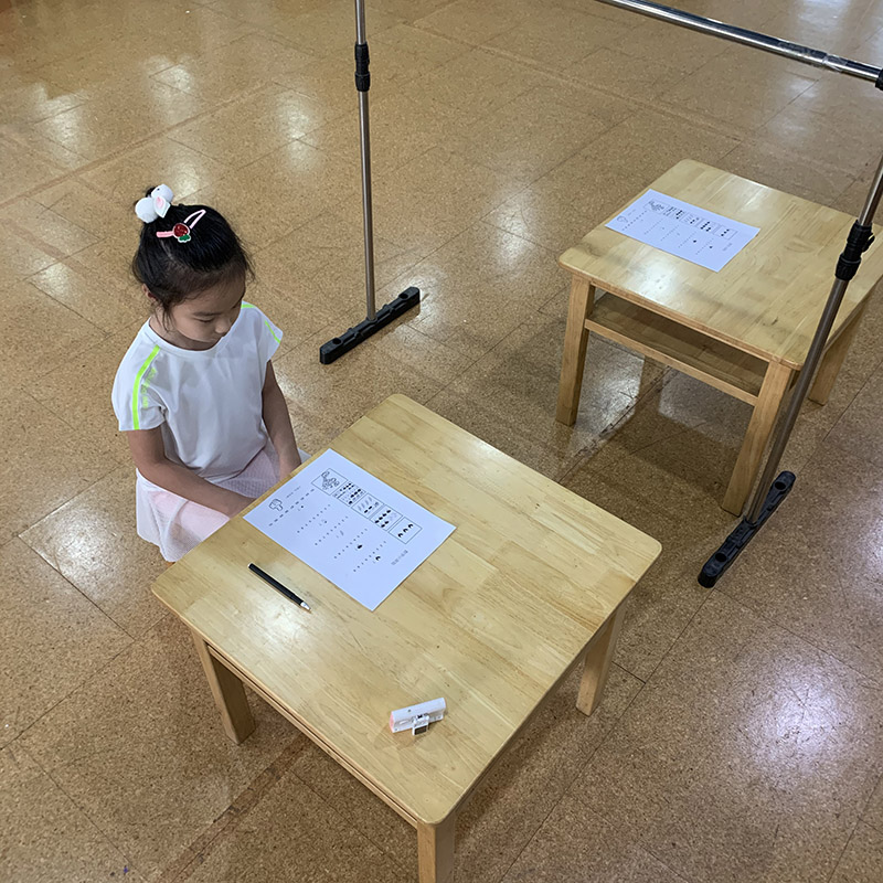
POLYGON ((600 295, 586 328, 655 361, 755 404, 767 363, 610 294, 600 295))

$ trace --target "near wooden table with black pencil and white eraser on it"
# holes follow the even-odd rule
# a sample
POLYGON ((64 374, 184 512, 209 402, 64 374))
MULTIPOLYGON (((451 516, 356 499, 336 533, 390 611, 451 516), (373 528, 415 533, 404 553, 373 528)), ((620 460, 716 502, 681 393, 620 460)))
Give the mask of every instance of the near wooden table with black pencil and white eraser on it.
POLYGON ((153 591, 192 630, 232 740, 254 728, 246 683, 416 827, 422 883, 448 881, 458 807, 574 666, 577 706, 597 705, 660 545, 401 395, 331 447, 456 525, 374 613, 242 517, 153 591), (427 733, 390 733, 393 709, 437 696, 427 733))

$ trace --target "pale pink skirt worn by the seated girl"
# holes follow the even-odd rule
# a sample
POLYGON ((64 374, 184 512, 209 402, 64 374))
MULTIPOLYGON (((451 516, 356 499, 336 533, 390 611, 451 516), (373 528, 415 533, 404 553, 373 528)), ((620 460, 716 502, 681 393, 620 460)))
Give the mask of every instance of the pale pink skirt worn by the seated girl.
MULTIPOLYGON (((300 451, 302 460, 309 455, 300 451)), ((148 481, 136 470, 135 513, 138 535, 159 546, 166 561, 178 561, 191 549, 211 536, 230 519, 215 509, 200 506, 185 497, 148 481)), ((220 487, 256 498, 266 493, 279 481, 279 460, 273 445, 264 449, 242 470, 220 487)))

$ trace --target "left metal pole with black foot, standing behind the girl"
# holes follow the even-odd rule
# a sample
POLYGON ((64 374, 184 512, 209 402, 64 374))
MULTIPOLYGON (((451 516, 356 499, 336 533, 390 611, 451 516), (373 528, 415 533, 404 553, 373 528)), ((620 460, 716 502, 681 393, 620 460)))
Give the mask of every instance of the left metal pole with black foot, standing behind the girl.
POLYGON ((331 364, 341 355, 358 347, 363 340, 390 325, 403 312, 421 302, 419 288, 412 286, 398 297, 374 308, 374 221, 371 206, 371 132, 368 123, 368 91, 371 88, 369 73, 368 40, 365 38, 365 8, 363 0, 355 0, 355 88, 359 93, 359 143, 362 153, 362 222, 365 240, 365 299, 368 312, 359 325, 348 328, 340 337, 331 338, 319 347, 319 362, 331 364))

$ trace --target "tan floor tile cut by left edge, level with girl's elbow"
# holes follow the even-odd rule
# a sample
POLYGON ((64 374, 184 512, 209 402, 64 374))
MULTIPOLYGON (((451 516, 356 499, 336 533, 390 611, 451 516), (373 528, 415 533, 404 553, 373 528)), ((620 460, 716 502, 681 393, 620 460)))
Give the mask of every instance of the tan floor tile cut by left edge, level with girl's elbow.
POLYGON ((0 393, 0 538, 29 528, 116 468, 111 453, 30 395, 0 393))

